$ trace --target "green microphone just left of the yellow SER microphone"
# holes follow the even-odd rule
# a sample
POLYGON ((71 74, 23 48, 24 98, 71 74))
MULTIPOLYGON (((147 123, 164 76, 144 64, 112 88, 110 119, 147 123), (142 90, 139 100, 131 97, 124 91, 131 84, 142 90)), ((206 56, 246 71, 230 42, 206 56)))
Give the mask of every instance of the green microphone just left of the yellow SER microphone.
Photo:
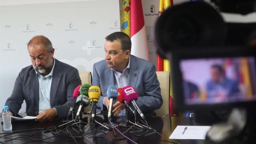
POLYGON ((90 84, 83 84, 80 87, 80 96, 76 99, 76 104, 79 104, 78 110, 76 112, 75 121, 78 118, 82 107, 86 107, 89 105, 89 98, 88 98, 88 89, 90 88, 90 84))

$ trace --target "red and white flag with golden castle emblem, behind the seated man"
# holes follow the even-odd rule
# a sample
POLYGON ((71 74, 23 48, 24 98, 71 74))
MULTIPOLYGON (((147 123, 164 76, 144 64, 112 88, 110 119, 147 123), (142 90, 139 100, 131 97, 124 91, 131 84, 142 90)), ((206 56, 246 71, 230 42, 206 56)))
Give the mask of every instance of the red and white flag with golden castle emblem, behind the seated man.
POLYGON ((141 0, 123 0, 121 25, 121 31, 131 38, 131 54, 149 60, 141 0))

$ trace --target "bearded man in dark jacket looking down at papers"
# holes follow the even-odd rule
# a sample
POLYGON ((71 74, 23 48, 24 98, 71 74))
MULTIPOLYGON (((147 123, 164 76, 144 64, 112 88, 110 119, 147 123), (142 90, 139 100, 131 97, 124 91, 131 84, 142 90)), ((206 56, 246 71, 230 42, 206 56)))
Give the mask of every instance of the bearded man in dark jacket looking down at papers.
POLYGON ((45 36, 32 38, 28 53, 32 65, 20 71, 5 105, 16 116, 25 100, 27 115, 42 122, 67 117, 73 91, 81 84, 78 70, 53 58, 54 48, 45 36))

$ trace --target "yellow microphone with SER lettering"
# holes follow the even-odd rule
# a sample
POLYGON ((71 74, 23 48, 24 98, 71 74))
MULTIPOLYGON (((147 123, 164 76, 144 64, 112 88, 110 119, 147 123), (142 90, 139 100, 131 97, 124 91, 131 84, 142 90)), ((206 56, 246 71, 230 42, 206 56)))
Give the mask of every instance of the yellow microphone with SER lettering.
POLYGON ((88 90, 89 99, 92 103, 92 121, 95 120, 96 103, 98 103, 100 99, 100 94, 100 87, 98 86, 91 86, 88 90))

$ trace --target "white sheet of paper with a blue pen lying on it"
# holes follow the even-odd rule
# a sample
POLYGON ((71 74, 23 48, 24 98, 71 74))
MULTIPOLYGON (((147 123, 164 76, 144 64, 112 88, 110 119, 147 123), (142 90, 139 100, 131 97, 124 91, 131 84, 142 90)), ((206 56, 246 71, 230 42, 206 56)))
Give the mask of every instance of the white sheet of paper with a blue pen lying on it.
POLYGON ((205 140, 211 126, 177 126, 169 139, 205 140))

